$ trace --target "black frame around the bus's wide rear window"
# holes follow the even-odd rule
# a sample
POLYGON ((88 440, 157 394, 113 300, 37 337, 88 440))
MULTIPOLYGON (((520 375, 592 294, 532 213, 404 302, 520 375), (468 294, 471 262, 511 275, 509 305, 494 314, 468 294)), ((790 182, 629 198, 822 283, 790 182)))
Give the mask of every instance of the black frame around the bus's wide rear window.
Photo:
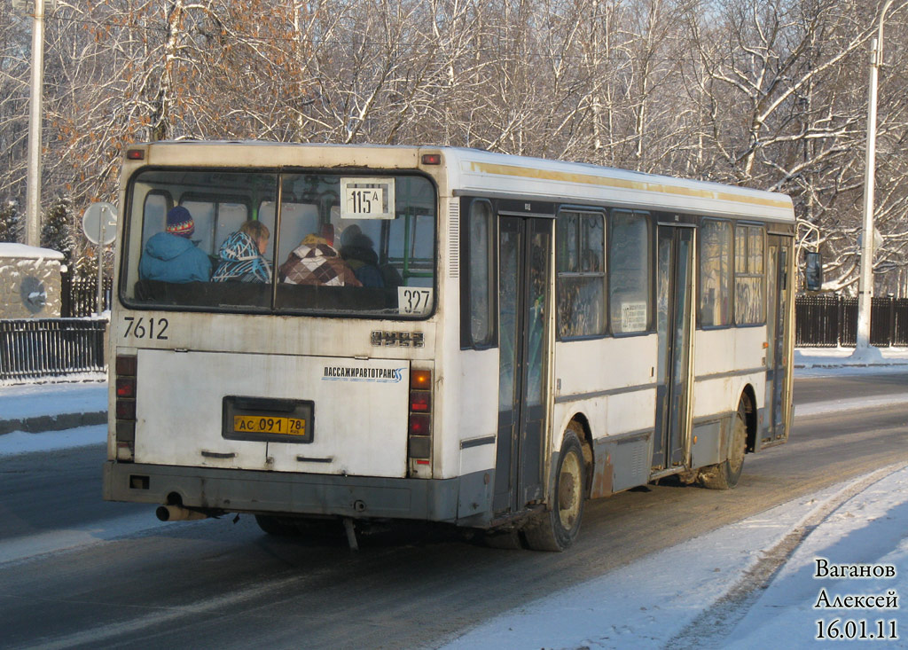
MULTIPOLYGON (((433 266, 432 266, 432 287, 431 287, 432 288, 431 309, 428 310, 426 313, 420 314, 418 316, 405 316, 400 313, 398 313, 398 314, 377 313, 374 311, 359 313, 359 312, 349 312, 349 311, 327 311, 327 310, 318 311, 318 312, 280 310, 274 304, 273 291, 272 291, 271 305, 267 308, 267 310, 264 310, 264 311, 262 311, 261 309, 255 309, 252 306, 250 306, 248 308, 240 309, 235 306, 220 307, 220 306, 190 305, 190 304, 173 305, 173 304, 165 304, 165 303, 143 303, 138 300, 135 300, 134 298, 129 298, 126 295, 126 281, 133 279, 132 276, 129 275, 129 272, 128 272, 129 264, 131 261, 130 260, 131 256, 130 256, 129 250, 126 247, 118 245, 118 249, 120 251, 120 260, 119 260, 119 263, 117 264, 117 272, 116 272, 116 285, 117 286, 115 289, 116 289, 117 300, 120 301, 120 304, 123 306, 123 308, 125 308, 127 310, 133 310, 133 311, 169 311, 169 312, 177 312, 177 313, 179 313, 179 312, 216 313, 216 314, 236 314, 236 315, 240 315, 240 316, 271 316, 271 317, 292 316, 292 317, 304 317, 304 318, 345 318, 345 319, 357 319, 357 320, 392 320, 394 322, 419 322, 419 321, 423 321, 423 320, 429 320, 429 319, 433 318, 436 315, 436 313, 438 312, 438 310, 439 310, 439 277, 442 272, 442 270, 440 268, 440 264, 439 264, 439 237, 440 237, 439 222, 441 219, 441 212, 440 212, 441 196, 440 196, 440 192, 439 192, 438 183, 435 182, 435 179, 433 179, 428 173, 423 172, 419 169, 396 169, 396 168, 395 169, 375 169, 375 168, 351 167, 349 169, 344 168, 344 169, 340 170, 340 169, 322 168, 322 167, 301 168, 301 167, 296 167, 296 166, 292 166, 292 167, 288 166, 288 167, 280 167, 280 168, 257 167, 257 168, 254 168, 254 170, 252 170, 251 168, 245 168, 245 167, 216 167, 216 166, 203 166, 203 165, 195 165, 195 166, 192 166, 192 165, 173 165, 173 166, 143 165, 142 167, 139 167, 133 171, 133 173, 129 177, 129 180, 125 184, 123 214, 127 215, 127 218, 125 219, 125 223, 123 224, 123 241, 130 242, 130 245, 131 246, 133 245, 132 235, 133 235, 133 230, 134 230, 134 222, 136 220, 133 220, 128 215, 131 215, 132 211, 134 209, 133 203, 134 203, 134 198, 135 198, 135 192, 134 192, 135 184, 143 173, 147 173, 147 172, 200 172, 200 171, 217 171, 217 172, 223 172, 223 173, 249 173, 252 171, 254 173, 274 174, 275 178, 276 178, 276 182, 278 183, 277 184, 278 188, 280 188, 281 178, 282 178, 283 174, 311 174, 311 175, 320 175, 321 174, 321 175, 339 176, 339 177, 342 174, 344 176, 362 175, 362 176, 374 177, 377 173, 380 173, 380 174, 383 173, 384 175, 393 176, 395 178, 400 177, 400 176, 416 176, 416 177, 419 177, 419 178, 429 182, 429 187, 431 188, 431 191, 434 194, 433 206, 434 206, 434 211, 435 211, 435 215, 434 215, 434 217, 435 217, 435 222, 434 222, 435 233, 434 233, 434 237, 432 238, 433 241, 432 241, 432 254, 431 254, 431 261, 433 264, 433 266)), ((159 189, 159 188, 153 188, 152 190, 149 190, 148 192, 146 192, 146 196, 147 196, 147 194, 150 194, 152 192, 167 192, 167 191, 159 189)), ((188 195, 188 194, 192 194, 192 192, 186 192, 186 194, 181 195, 181 201, 183 199, 183 196, 188 195)), ((208 194, 207 192, 197 192, 196 195, 205 196, 205 195, 210 195, 210 194, 208 194)), ((281 195, 280 192, 278 192, 276 194, 276 196, 280 196, 280 195, 281 195)), ((252 203, 251 202, 252 202, 252 197, 250 197, 250 202, 243 201, 242 203, 246 204, 248 207, 250 207, 250 213, 252 214, 252 203)), ((182 203, 177 203, 177 204, 182 204, 182 203)), ((143 209, 144 209, 144 205, 143 205, 143 209)), ((278 210, 280 210, 280 208, 278 208, 278 210)), ((275 225, 276 226, 277 226, 277 224, 280 223, 280 219, 278 218, 279 216, 280 216, 280 212, 276 212, 275 213, 275 225)), ((493 219, 493 221, 494 221, 494 219, 493 219)), ((144 213, 143 213, 142 222, 144 222, 144 213)), ((141 232, 141 230, 142 230, 141 227, 139 228, 139 230, 141 232)), ((273 236, 273 233, 272 233, 271 241, 273 242, 271 245, 276 247, 277 240, 273 236)), ((142 247, 140 247, 140 250, 139 250, 139 259, 141 259, 141 256, 142 256, 142 247)), ((497 258, 496 258, 496 260, 497 260, 497 258)), ((137 275, 138 274, 138 263, 139 263, 138 260, 136 260, 135 261, 135 268, 136 268, 135 280, 138 279, 138 275, 137 275)), ((277 265, 275 265, 275 267, 276 266, 277 265)), ((212 269, 212 271, 213 271, 213 269, 212 269)), ((273 280, 271 282, 272 290, 274 290, 277 287, 277 285, 280 284, 280 282, 278 282, 276 280, 276 278, 277 278, 276 274, 275 274, 274 278, 275 278, 275 280, 273 280)), ((497 279, 498 278, 496 276, 496 281, 497 281, 497 279)), ((414 286, 418 286, 418 285, 414 285, 414 286)), ((496 304, 496 307, 497 307, 497 304, 496 304)), ((498 343, 498 341, 496 340, 495 344, 497 345, 497 343, 498 343)), ((489 347, 495 347, 495 345, 492 345, 489 347)))

